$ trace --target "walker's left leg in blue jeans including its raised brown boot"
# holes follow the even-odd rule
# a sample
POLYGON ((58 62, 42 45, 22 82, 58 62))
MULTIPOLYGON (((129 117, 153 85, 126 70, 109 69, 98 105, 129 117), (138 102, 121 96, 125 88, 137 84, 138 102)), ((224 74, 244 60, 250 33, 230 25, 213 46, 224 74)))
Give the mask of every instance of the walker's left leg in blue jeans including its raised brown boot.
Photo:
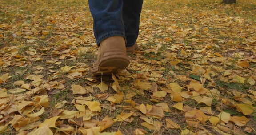
POLYGON ((99 46, 93 75, 111 75, 129 65, 125 48, 125 29, 122 17, 123 0, 89 0, 94 20, 94 35, 99 46))

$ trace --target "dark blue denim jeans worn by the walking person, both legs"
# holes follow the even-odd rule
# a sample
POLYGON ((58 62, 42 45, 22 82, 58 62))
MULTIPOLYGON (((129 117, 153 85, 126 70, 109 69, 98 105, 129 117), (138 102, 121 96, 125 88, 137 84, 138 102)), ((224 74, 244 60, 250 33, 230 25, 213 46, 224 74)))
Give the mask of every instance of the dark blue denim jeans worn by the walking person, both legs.
POLYGON ((96 42, 110 36, 123 36, 126 46, 135 44, 143 0, 89 0, 96 42))

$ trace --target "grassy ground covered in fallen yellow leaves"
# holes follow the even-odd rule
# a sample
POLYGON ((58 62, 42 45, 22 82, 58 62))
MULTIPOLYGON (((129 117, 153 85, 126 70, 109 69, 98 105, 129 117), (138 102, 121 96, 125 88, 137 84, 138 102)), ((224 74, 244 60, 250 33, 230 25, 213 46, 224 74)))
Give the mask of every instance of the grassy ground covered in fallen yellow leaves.
POLYGON ((256 2, 145 0, 129 67, 95 78, 86 0, 0 1, 1 135, 256 135, 256 2))

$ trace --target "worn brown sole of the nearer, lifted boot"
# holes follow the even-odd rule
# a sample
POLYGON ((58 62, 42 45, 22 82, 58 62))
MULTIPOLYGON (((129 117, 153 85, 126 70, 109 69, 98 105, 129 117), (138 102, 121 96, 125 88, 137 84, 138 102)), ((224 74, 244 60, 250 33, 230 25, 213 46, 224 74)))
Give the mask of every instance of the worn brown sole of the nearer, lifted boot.
POLYGON ((129 60, 125 58, 109 58, 102 60, 99 64, 99 70, 94 73, 94 76, 112 75, 112 73, 125 69, 129 64, 129 60))

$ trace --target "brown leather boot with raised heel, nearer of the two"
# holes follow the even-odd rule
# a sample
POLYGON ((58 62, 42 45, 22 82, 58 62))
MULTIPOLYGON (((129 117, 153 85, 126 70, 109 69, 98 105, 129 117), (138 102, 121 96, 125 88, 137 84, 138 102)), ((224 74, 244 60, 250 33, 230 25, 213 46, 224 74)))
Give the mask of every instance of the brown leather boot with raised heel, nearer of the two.
POLYGON ((129 64, 124 38, 112 36, 100 43, 98 60, 93 64, 92 74, 95 76, 111 75, 111 73, 125 69, 129 64))

